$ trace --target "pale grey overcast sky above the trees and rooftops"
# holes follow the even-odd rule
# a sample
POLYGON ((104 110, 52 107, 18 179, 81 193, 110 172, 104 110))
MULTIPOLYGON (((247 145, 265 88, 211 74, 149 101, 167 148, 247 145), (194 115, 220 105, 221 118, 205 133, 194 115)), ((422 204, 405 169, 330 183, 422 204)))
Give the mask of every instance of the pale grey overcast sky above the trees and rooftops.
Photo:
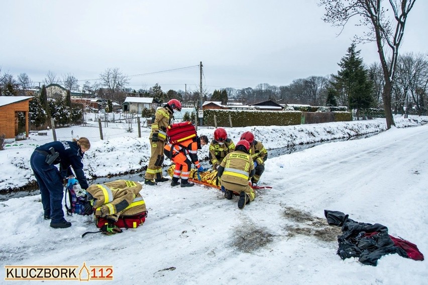
MULTIPOLYGON (((130 87, 156 83, 169 89, 203 85, 288 85, 294 79, 336 73, 354 34, 321 18, 315 0, 2 0, 0 66, 37 82, 52 71, 73 74, 80 84, 106 68, 139 75, 130 87)), ((406 23, 403 52, 428 52, 428 1, 417 1, 406 23)), ((376 47, 358 44, 366 64, 378 61, 376 47)))

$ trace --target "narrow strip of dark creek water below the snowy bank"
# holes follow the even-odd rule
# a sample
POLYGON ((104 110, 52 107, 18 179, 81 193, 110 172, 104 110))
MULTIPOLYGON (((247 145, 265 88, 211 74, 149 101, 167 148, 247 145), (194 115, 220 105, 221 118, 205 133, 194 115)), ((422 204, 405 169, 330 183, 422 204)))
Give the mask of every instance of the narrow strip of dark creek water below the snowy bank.
MULTIPOLYGON (((272 149, 272 150, 268 150, 268 159, 279 157, 282 155, 288 155, 288 154, 292 154, 292 153, 296 153, 296 152, 301 152, 303 150, 310 149, 310 148, 313 148, 313 147, 316 147, 319 145, 323 145, 323 144, 327 144, 327 143, 334 143, 335 141, 346 141, 346 140, 352 140, 352 139, 367 138, 367 137, 376 135, 378 133, 380 133, 380 132, 372 132, 369 134, 351 136, 348 138, 339 138, 339 139, 333 139, 333 140, 318 141, 317 143, 312 143, 312 144, 304 144, 304 145, 296 145, 296 146, 291 146, 291 147, 286 147, 286 148, 272 149)), ((204 168, 210 168, 208 161, 204 161, 201 164, 202 164, 202 167, 204 167, 204 168)), ((166 172, 166 170, 168 168, 169 167, 164 168, 164 173, 166 172)), ((145 173, 146 172, 143 171, 140 173, 126 174, 126 175, 115 176, 115 177, 100 177, 100 178, 88 180, 88 183, 89 184, 100 184, 100 183, 105 183, 105 182, 109 182, 112 180, 120 180, 120 179, 132 180, 132 181, 143 181, 145 173)), ((39 195, 39 194, 40 194, 39 189, 35 189, 35 190, 31 190, 31 191, 8 192, 5 194, 0 194, 0 202, 6 201, 6 200, 9 200, 12 198, 34 196, 34 195, 39 195)))

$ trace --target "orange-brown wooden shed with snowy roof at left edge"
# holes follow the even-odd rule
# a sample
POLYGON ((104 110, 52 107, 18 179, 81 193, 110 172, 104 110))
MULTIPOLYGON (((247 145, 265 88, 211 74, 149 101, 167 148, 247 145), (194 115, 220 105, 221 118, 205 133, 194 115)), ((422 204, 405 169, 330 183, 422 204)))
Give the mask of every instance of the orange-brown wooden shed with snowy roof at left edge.
POLYGON ((0 96, 0 134, 16 138, 19 134, 19 120, 25 120, 25 136, 29 133, 29 96, 0 96), (19 113, 22 113, 21 115, 19 113))

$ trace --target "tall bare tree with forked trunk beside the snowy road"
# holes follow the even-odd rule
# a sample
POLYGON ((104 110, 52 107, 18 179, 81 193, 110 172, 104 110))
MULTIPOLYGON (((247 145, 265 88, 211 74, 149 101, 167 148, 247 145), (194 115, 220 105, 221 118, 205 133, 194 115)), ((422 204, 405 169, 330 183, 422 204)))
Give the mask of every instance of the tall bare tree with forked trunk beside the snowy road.
POLYGON ((395 125, 392 116, 391 94, 395 79, 398 50, 404 35, 404 27, 408 13, 413 8, 415 0, 388 0, 383 5, 382 0, 318 0, 320 6, 325 6, 326 14, 323 20, 333 26, 345 27, 349 20, 360 17, 357 26, 366 26, 369 31, 359 37, 360 41, 375 41, 383 70, 385 86, 382 92, 386 117, 386 128, 395 125), (392 13, 392 15, 387 14, 392 13), (389 52, 390 60, 387 60, 389 52))

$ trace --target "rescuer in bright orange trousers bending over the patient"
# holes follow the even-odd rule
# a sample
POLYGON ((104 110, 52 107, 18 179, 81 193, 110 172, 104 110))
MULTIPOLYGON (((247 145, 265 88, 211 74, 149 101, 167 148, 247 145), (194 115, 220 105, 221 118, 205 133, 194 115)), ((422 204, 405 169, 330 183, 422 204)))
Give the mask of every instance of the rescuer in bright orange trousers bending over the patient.
POLYGON ((191 163, 196 166, 198 172, 204 171, 198 161, 197 150, 200 150, 206 144, 208 144, 208 138, 206 135, 201 135, 196 138, 184 140, 178 144, 167 144, 165 146, 165 156, 175 163, 171 186, 180 185, 178 182, 180 176, 181 187, 191 187, 194 185, 194 183, 188 181, 191 163), (190 160, 187 158, 187 155, 189 155, 190 160))

